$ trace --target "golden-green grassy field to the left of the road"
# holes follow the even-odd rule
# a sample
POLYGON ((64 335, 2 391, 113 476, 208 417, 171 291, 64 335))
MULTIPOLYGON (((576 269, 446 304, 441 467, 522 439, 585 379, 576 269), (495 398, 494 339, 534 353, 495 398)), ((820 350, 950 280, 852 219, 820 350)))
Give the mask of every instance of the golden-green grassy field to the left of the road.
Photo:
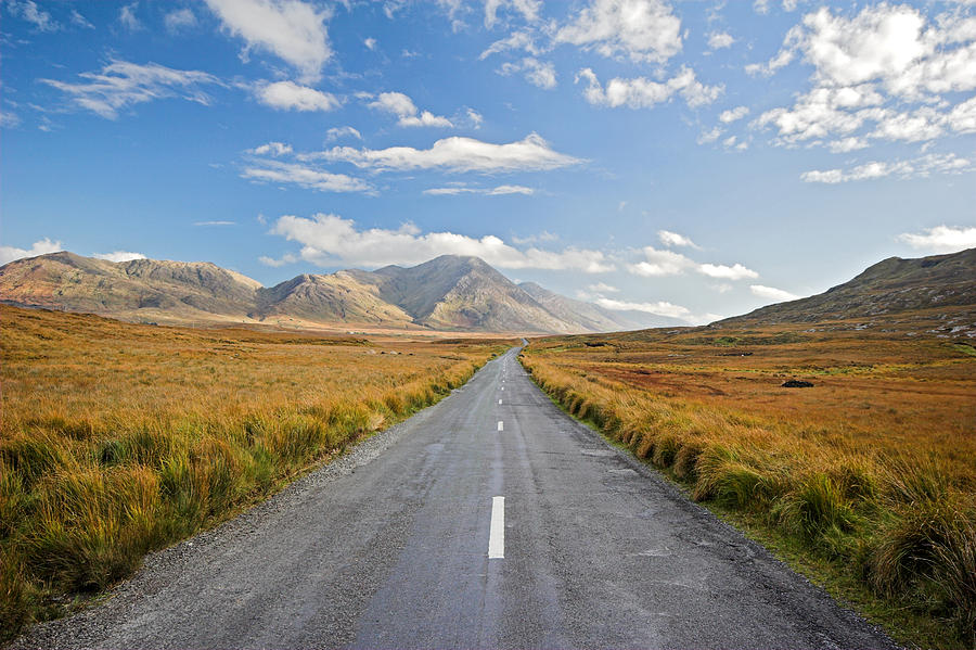
POLYGON ((437 402, 508 346, 0 317, 0 639, 437 402))

